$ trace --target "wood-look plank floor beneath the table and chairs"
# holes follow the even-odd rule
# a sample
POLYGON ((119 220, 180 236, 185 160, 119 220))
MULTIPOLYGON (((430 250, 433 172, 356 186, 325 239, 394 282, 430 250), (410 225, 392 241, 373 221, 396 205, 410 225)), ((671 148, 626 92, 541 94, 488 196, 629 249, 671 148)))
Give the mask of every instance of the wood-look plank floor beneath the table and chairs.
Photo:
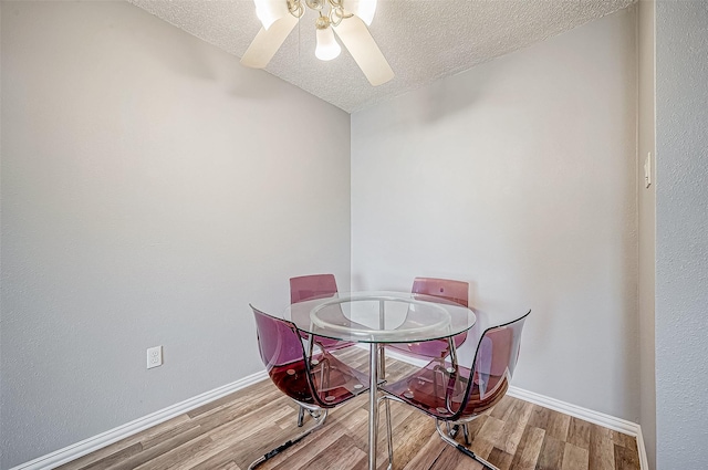
MULTIPOLYGON (((346 361, 366 368, 362 351, 346 361)), ((387 361, 395 378, 409 365, 387 361)), ((325 425, 302 442, 259 467, 263 470, 364 470, 367 468, 368 396, 330 411, 325 425)), ((403 404, 392 403, 394 469, 482 470, 483 467, 444 443, 435 421, 403 404)), ((299 435, 298 407, 270 380, 201 406, 73 462, 61 470, 246 470, 272 448, 299 435)), ((383 416, 382 416, 383 417, 383 416)), ((305 420, 303 428, 312 425, 305 420)), ((501 470, 638 470, 633 437, 504 397, 470 424, 469 446, 501 470)), ((378 469, 387 464, 385 430, 379 427, 378 469)), ((458 440, 462 442, 462 438, 458 440)))

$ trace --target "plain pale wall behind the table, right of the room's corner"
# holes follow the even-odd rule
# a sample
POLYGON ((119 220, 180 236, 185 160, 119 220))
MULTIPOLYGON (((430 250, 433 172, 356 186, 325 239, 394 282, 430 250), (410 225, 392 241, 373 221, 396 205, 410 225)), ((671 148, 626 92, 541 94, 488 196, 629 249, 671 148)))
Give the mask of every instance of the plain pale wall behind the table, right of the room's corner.
POLYGON ((514 384, 637 420, 635 11, 352 115, 352 283, 532 309, 514 384))

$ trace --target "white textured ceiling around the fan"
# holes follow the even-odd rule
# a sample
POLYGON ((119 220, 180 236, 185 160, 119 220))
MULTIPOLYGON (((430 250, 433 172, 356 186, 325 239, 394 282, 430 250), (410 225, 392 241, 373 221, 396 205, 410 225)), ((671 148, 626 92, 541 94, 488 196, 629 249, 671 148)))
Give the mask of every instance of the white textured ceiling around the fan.
MULTIPOLYGON (((128 1, 238 58, 260 30, 252 0, 128 1)), ((376 87, 344 48, 333 61, 315 59, 315 13, 308 11, 266 70, 352 113, 634 1, 378 0, 369 31, 396 76, 376 87)))

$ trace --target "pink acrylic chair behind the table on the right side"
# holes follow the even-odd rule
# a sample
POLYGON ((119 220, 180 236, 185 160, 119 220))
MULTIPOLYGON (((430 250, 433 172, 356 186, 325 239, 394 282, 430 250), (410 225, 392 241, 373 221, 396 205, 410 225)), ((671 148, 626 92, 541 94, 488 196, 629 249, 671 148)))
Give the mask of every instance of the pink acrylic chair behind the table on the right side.
MULTIPOLYGON (((451 279, 416 278, 410 292, 426 296, 439 297, 444 302, 468 305, 469 283, 451 279)), ((455 347, 467 340, 467 332, 452 337, 455 347)), ((388 348, 417 358, 444 358, 450 353, 447 340, 427 341, 424 343, 389 344, 388 348)))

